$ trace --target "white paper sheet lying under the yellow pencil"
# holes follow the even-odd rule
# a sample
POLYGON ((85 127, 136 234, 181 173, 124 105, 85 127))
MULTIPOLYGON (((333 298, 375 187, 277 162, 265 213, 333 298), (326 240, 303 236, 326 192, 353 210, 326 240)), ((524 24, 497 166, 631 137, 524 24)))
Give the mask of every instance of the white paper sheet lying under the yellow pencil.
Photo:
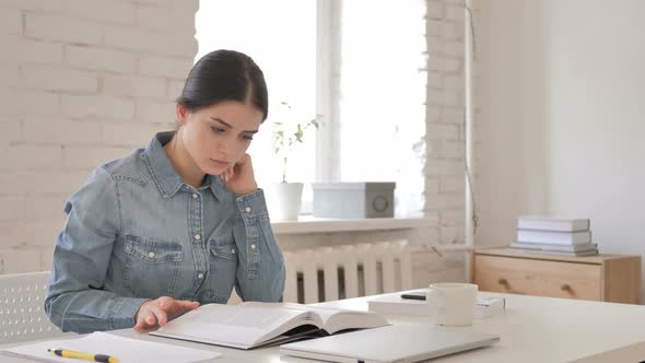
POLYGON ((27 343, 0 352, 2 354, 25 356, 39 362, 83 362, 55 355, 48 352, 47 349, 67 349, 91 354, 107 354, 118 359, 119 363, 189 363, 212 360, 222 355, 213 351, 124 338, 106 332, 93 332, 75 339, 27 343))

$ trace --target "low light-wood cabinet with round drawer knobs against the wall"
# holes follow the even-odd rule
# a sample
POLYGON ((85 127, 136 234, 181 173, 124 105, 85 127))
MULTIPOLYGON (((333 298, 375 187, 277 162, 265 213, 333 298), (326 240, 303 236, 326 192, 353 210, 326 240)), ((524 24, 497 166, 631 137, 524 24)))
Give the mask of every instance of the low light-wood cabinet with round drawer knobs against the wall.
POLYGON ((508 248, 477 249, 480 291, 637 304, 641 256, 566 257, 508 248))

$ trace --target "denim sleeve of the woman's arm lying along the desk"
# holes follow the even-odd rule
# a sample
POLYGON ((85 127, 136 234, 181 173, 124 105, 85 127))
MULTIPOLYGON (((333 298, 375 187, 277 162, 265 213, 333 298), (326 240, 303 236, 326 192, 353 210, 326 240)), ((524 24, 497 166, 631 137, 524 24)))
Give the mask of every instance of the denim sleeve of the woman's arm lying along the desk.
POLYGON ((134 326, 144 298, 104 290, 115 239, 120 230, 118 189, 97 168, 66 203, 68 220, 54 249, 45 311, 62 331, 91 332, 134 326))

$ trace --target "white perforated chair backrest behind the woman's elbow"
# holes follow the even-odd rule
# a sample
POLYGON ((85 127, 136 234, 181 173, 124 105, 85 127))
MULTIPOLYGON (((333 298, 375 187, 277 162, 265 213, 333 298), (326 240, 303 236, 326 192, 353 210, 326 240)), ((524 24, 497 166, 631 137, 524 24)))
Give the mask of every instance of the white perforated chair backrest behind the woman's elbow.
POLYGON ((0 342, 68 336, 49 321, 44 300, 49 272, 0 274, 0 342))

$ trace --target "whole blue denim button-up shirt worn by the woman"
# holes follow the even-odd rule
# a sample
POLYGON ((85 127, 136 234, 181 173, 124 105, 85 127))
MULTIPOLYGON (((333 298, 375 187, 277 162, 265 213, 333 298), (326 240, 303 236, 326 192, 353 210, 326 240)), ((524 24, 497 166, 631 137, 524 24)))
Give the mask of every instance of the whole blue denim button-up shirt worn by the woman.
POLYGON ((45 311, 63 331, 134 326, 146 300, 277 302, 282 253, 262 190, 237 197, 219 176, 195 189, 163 149, 173 132, 95 169, 66 203, 45 311))

